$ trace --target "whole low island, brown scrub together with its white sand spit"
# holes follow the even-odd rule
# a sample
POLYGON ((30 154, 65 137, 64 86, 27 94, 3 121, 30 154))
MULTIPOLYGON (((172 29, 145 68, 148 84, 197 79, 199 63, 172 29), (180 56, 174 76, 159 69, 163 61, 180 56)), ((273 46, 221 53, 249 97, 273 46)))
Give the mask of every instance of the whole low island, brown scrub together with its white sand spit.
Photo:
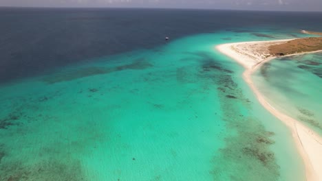
MULTIPOLYGON (((304 30, 303 30, 304 31, 304 30)), ((302 31, 302 32, 303 32, 302 31)), ((312 32, 303 32, 313 34, 312 32)), ((318 35, 318 32, 314 32, 318 35)), ((322 33, 319 33, 322 35, 322 33)), ((322 37, 297 38, 289 40, 255 41, 243 43, 228 43, 218 45, 217 50, 233 58, 244 66, 244 80, 257 96, 264 108, 283 121, 292 131, 292 137, 299 149, 299 154, 305 163, 307 180, 322 180, 322 138, 300 121, 283 114, 271 106, 259 92, 250 75, 262 64, 278 56, 292 56, 301 53, 322 51, 322 37)))

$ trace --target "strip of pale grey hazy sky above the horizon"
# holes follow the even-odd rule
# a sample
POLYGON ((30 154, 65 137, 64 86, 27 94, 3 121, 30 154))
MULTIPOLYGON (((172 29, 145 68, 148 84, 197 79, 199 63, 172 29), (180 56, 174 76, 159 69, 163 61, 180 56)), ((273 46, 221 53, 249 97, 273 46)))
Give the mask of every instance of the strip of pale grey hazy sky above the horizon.
POLYGON ((54 8, 197 8, 322 12, 322 0, 0 0, 0 6, 54 8))

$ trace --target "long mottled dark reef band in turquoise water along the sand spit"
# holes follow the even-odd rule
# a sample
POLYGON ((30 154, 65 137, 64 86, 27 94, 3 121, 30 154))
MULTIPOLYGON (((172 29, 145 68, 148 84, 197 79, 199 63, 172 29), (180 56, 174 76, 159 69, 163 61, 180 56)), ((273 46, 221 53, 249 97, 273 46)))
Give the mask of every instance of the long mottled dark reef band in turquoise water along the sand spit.
POLYGON ((275 143, 271 138, 274 133, 266 131, 252 116, 251 102, 234 81, 233 71, 226 71, 228 69, 223 64, 210 58, 203 60, 199 76, 218 86, 226 127, 236 132, 225 138, 226 146, 211 160, 213 180, 277 180, 279 166, 270 150, 270 145, 275 143))

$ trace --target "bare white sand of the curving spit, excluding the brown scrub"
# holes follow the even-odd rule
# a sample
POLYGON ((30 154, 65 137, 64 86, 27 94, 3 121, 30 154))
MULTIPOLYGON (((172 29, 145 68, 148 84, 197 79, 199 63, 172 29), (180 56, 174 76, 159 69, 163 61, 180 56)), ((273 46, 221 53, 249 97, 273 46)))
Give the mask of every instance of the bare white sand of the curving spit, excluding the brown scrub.
POLYGON ((246 70, 243 73, 244 80, 252 88, 261 105, 290 128, 294 142, 305 163, 306 180, 322 181, 322 137, 303 125, 303 123, 272 107, 266 98, 261 95, 250 77, 261 64, 275 58, 268 51, 270 45, 279 45, 287 41, 289 40, 228 43, 218 45, 216 48, 245 67, 246 70))

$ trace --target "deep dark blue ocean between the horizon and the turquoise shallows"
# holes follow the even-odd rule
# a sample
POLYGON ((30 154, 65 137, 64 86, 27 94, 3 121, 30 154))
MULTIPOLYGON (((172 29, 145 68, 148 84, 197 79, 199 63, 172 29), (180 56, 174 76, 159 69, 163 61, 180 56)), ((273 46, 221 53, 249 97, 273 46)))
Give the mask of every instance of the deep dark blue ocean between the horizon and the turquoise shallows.
POLYGON ((0 82, 192 34, 321 30, 321 12, 0 8, 0 82))

